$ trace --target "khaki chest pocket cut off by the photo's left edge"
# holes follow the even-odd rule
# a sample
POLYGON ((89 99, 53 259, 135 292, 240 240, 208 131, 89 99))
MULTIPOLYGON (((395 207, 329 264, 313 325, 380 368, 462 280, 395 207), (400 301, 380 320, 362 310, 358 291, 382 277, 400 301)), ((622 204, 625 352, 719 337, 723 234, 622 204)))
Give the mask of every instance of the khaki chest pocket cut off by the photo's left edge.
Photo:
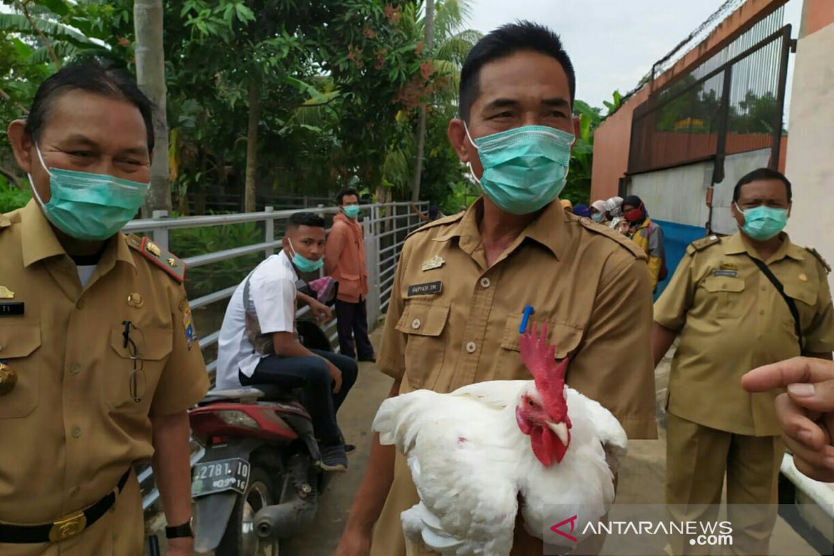
POLYGON ((0 396, 0 418, 26 417, 38 407, 42 365, 29 356, 40 345, 40 323, 0 324, 0 363, 17 376, 12 391, 0 396))

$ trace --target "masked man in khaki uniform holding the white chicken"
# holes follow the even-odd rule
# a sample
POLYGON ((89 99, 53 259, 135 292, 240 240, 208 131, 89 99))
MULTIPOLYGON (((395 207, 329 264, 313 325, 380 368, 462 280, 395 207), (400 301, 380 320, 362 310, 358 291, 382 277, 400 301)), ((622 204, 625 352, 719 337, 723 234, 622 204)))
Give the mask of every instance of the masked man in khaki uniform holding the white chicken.
MULTIPOLYGON (((485 195, 406 240, 377 365, 394 378, 392 396, 530 379, 519 329, 531 306, 528 329, 547 325, 555 357, 570 357, 570 386, 609 408, 630 438, 656 438, 645 255, 609 228, 565 213, 556 197, 570 156, 562 133, 570 138, 575 129, 573 83, 570 59, 546 28, 508 25, 473 48, 461 74, 463 120, 450 123, 449 135, 485 195), (502 135, 510 144, 490 147, 502 135), (520 182, 502 162, 518 161, 515 144, 530 157, 520 182), (518 194, 508 194, 510 183, 518 194)), ((378 441, 340 556, 406 551, 399 514, 417 493, 405 458, 378 441)), ((515 554, 542 553, 538 539, 515 530, 515 554)))

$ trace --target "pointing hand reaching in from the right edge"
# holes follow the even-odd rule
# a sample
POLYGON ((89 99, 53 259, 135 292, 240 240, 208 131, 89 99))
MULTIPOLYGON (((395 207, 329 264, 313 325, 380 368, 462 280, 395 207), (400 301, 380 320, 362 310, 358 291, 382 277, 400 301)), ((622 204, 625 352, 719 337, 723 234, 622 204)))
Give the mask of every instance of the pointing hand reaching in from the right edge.
POLYGON ((776 397, 776 417, 796 468, 834 483, 834 362, 792 358, 755 368, 741 377, 748 392, 787 388, 776 397))

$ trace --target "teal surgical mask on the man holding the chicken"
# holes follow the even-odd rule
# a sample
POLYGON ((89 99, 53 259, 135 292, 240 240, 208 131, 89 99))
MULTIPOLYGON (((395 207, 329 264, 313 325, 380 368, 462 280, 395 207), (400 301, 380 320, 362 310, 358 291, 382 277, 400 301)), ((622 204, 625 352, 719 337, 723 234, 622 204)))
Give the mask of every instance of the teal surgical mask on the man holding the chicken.
POLYGON ((473 140, 469 128, 465 129, 484 167, 484 174, 475 181, 501 210, 535 213, 565 188, 574 142, 570 133, 547 126, 523 126, 473 140))

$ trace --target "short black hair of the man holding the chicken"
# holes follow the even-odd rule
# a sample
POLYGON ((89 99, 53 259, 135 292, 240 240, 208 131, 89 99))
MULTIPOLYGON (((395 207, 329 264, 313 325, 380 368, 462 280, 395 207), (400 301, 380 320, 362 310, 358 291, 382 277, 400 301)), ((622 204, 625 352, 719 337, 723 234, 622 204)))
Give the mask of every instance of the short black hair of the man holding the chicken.
POLYGON ((570 104, 573 104, 576 93, 576 73, 568 53, 565 52, 565 48, 562 48, 559 35, 538 23, 520 21, 502 25, 481 38, 466 56, 464 66, 460 70, 458 94, 460 118, 469 122, 472 104, 475 103, 475 98, 478 98, 481 68, 490 62, 523 51, 546 54, 561 64, 568 77, 570 104))

